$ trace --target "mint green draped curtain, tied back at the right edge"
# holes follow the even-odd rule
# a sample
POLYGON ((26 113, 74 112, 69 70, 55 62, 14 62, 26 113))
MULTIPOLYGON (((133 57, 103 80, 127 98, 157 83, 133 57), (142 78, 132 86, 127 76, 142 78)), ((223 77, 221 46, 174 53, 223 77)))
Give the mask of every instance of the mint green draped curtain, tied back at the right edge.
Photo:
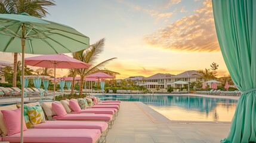
POLYGON ((256 1, 212 0, 212 8, 224 61, 242 91, 221 142, 256 142, 256 1))

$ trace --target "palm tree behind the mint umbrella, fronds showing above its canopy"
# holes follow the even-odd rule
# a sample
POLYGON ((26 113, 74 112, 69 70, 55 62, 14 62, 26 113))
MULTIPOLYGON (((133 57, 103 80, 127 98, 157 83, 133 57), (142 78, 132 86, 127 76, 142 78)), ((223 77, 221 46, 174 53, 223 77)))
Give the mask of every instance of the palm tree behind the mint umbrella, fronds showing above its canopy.
MULTIPOLYGON (((54 4, 53 0, 40 0, 40 1, 33 1, 33 0, 20 0, 20 1, 13 1, 13 0, 0 0, 0 13, 1 14, 21 14, 27 13, 34 17, 45 17, 47 14, 47 8, 54 4)), ((18 53, 14 52, 14 72, 13 72, 13 87, 16 87, 17 82, 17 62, 18 62, 18 53)))

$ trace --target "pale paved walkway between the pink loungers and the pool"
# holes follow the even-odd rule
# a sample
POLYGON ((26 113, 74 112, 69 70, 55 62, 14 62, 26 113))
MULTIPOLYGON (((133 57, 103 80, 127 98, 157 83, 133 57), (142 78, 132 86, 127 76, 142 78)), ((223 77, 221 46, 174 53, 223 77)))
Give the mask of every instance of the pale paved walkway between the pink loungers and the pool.
POLYGON ((220 142, 230 123, 173 122, 142 102, 122 102, 109 143, 220 142))

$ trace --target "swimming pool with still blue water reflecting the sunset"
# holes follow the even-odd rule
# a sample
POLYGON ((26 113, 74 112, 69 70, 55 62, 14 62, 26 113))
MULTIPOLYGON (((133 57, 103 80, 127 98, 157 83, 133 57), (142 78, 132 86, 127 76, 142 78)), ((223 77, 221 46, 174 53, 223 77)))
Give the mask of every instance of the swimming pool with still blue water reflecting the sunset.
POLYGON ((101 100, 141 101, 170 120, 231 122, 237 100, 172 95, 98 95, 101 100))

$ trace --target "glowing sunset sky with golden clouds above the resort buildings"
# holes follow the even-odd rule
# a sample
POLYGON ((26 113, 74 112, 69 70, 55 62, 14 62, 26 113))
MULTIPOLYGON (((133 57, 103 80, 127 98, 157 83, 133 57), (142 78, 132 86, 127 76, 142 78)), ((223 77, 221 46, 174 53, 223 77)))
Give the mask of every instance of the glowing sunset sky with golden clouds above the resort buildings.
MULTIPOLYGON (((90 44, 106 38, 98 63, 117 57, 106 66, 120 73, 117 79, 209 69, 212 62, 219 65, 218 76, 229 75, 211 1, 55 0, 55 4, 48 7, 45 19, 75 28, 90 37, 90 44)), ((13 55, 0 52, 0 60, 13 63, 13 55)), ((58 70, 57 76, 66 71, 58 70)))

